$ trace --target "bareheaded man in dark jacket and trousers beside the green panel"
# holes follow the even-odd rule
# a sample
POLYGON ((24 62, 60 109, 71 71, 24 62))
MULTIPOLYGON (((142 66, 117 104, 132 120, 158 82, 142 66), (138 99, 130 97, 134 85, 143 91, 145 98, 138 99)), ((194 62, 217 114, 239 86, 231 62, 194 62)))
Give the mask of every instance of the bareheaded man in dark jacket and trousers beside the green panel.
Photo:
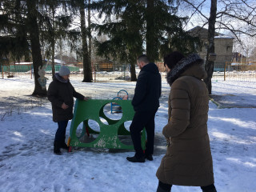
POLYGON ((132 105, 135 114, 130 125, 130 135, 134 143, 134 157, 127 157, 130 162, 145 162, 145 158, 152 161, 154 151, 154 116, 159 107, 161 96, 161 75, 158 67, 149 62, 145 54, 137 60, 140 73, 136 83, 132 105), (146 128, 146 151, 143 154, 141 131, 146 128))

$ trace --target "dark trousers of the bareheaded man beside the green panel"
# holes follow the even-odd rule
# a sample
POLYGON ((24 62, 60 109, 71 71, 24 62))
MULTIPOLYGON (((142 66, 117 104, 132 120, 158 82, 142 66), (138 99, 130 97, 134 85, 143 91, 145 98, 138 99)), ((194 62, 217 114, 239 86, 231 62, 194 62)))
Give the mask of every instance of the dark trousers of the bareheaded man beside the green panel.
POLYGON ((146 129, 146 154, 154 152, 154 116, 157 111, 135 111, 133 122, 130 125, 130 136, 134 143, 135 156, 142 158, 141 131, 146 129))

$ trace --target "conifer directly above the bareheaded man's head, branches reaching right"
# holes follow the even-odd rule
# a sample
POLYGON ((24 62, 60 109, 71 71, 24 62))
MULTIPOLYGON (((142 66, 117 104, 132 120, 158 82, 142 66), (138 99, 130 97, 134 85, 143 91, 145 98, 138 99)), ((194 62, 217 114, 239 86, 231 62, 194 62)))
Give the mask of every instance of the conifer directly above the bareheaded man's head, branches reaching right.
POLYGON ((178 1, 146 2, 146 54, 150 61, 158 61, 174 50, 190 54, 200 46, 198 38, 183 30, 187 18, 177 16, 178 1))

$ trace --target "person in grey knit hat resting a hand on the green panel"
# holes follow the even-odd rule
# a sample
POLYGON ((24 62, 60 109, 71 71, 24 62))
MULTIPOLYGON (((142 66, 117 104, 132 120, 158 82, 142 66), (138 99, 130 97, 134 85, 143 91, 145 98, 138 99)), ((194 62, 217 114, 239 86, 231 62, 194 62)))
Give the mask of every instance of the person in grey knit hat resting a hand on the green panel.
POLYGON ((52 104, 53 120, 58 122, 58 130, 54 139, 54 154, 62 154, 60 148, 68 150, 65 134, 67 123, 73 118, 74 98, 87 100, 74 90, 69 78, 69 68, 62 66, 48 88, 47 97, 52 104))

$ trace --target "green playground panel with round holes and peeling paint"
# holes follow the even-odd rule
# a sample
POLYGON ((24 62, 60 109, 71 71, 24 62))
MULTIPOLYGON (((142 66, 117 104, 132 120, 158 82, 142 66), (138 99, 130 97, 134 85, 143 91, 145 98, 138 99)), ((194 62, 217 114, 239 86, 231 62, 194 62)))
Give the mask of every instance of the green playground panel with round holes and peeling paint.
MULTIPOLYGON (((100 100, 90 99, 87 101, 76 100, 74 106, 74 118, 72 119, 70 126, 70 146, 80 147, 96 147, 96 148, 108 148, 108 149, 128 149, 133 150, 133 145, 126 145, 120 142, 118 135, 130 135, 130 132, 126 130, 124 123, 132 121, 134 118, 134 108, 131 105, 130 100, 100 100), (106 117, 103 112, 104 106, 114 102, 122 107, 122 118, 118 120, 110 119, 106 117), (100 118, 103 118, 108 122, 108 125, 104 124, 100 118), (98 122, 100 131, 93 130, 88 121, 94 120, 98 122), (78 137, 76 134, 77 128, 83 123, 82 134, 78 137), (79 141, 79 138, 86 134, 86 128, 90 134, 98 134, 93 142, 85 143, 79 141)), ((146 148, 146 130, 142 130, 142 149, 146 148)))

